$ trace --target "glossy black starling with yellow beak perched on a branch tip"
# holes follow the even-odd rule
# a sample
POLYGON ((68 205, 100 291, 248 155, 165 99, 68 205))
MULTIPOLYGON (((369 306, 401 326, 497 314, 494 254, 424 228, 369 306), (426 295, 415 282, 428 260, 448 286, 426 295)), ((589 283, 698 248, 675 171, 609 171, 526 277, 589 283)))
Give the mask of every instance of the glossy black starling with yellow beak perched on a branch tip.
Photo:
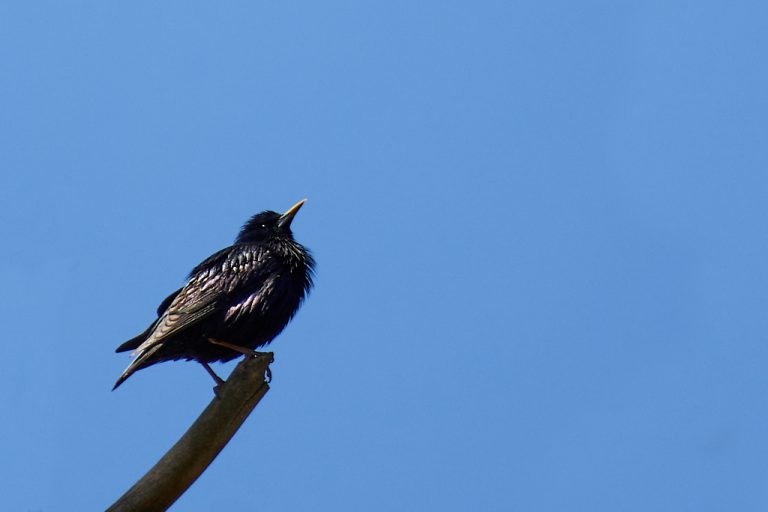
POLYGON ((254 215, 233 245, 196 266, 160 304, 157 320, 117 348, 136 359, 112 389, 137 370, 177 359, 198 361, 221 383, 208 363, 253 355, 280 334, 312 288, 315 262, 291 232, 304 201, 282 215, 254 215))

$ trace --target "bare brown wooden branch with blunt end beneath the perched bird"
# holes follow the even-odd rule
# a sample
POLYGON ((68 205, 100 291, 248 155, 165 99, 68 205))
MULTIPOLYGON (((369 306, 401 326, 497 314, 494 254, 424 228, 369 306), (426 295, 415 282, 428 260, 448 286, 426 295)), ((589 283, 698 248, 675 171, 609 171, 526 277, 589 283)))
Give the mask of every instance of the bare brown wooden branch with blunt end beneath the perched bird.
POLYGON ((264 376, 271 362, 267 352, 238 364, 181 439, 107 512, 163 511, 173 505, 269 391, 264 376))

